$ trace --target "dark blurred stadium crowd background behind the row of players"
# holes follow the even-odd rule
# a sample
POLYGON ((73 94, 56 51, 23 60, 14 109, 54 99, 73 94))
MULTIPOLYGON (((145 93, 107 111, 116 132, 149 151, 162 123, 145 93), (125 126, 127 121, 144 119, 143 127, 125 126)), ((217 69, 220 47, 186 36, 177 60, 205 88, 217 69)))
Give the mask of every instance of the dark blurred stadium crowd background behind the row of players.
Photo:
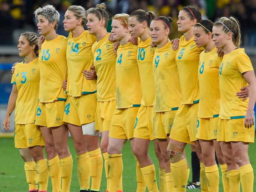
MULTIPOLYGON (((22 61, 17 52, 20 33, 35 31, 36 20, 33 12, 39 6, 52 4, 60 13, 58 34, 67 36, 63 29, 63 17, 70 5, 82 5, 88 9, 105 2, 111 15, 131 13, 135 9, 154 11, 157 15, 171 16, 174 19, 170 39, 179 38, 177 16, 186 5, 196 5, 202 12, 202 18, 215 21, 218 17, 230 15, 238 18, 241 24, 242 47, 249 55, 253 65, 256 63, 256 0, 0 0, 0 122, 2 124, 11 92, 11 66, 22 61)), ((111 22, 111 21, 110 21, 111 22)), ((110 25, 109 25, 110 26, 110 25)), ((111 28, 108 26, 108 31, 111 28)), ((12 117, 11 130, 14 128, 12 117)), ((0 133, 3 134, 3 129, 0 133)))

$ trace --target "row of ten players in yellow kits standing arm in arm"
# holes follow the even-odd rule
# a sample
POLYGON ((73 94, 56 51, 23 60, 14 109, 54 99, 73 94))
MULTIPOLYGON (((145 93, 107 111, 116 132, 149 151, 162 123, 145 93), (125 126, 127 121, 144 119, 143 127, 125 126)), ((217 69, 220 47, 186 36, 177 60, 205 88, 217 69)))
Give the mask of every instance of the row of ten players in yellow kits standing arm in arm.
POLYGON ((144 10, 113 16, 108 33, 104 4, 87 11, 70 6, 63 20, 67 38, 56 34, 59 13, 53 6, 34 14, 42 37, 20 35, 24 61, 13 68, 3 123, 8 130, 15 108, 15 147, 30 192, 47 191, 48 176, 53 192, 70 191, 69 133, 80 192, 100 190, 102 154, 106 191, 123 191, 122 147, 128 139, 137 161, 137 192, 186 191, 187 143, 196 146, 202 191, 219 191, 215 151, 224 192, 239 192, 240 182, 243 191, 253 191, 248 147, 254 142, 256 78, 234 17, 213 24, 201 20, 197 8, 183 7, 177 24, 184 35, 170 41, 172 18, 144 10), (148 155, 150 140, 159 178, 148 155))

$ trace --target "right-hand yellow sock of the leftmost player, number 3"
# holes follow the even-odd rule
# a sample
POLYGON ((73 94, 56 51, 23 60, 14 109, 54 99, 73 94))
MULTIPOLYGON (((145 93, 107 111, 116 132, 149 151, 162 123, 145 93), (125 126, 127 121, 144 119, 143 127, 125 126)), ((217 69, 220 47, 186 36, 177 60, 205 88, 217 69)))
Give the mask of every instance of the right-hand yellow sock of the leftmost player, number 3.
POLYGON ((35 162, 35 170, 37 172, 37 183, 39 192, 47 191, 49 172, 46 164, 46 159, 41 159, 35 162))

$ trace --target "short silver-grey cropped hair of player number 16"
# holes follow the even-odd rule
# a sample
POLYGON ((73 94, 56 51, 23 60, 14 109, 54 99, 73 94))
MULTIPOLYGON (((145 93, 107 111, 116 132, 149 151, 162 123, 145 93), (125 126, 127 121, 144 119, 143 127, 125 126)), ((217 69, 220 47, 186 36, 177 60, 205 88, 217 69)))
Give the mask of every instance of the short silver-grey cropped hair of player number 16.
POLYGON ((35 18, 38 17, 38 15, 43 15, 46 19, 48 19, 49 24, 56 22, 56 25, 54 29, 56 30, 59 26, 59 12, 55 9, 52 5, 44 6, 43 8, 39 7, 34 12, 35 18))

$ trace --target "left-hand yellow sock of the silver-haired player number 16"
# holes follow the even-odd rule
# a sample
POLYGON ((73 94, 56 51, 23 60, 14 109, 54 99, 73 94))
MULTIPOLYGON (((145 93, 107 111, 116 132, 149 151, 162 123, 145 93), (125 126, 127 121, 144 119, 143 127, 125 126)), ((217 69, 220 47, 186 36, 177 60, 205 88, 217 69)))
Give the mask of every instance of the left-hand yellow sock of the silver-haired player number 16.
POLYGON ((47 161, 48 172, 52 181, 52 192, 59 192, 61 190, 61 177, 59 167, 59 156, 47 161))

